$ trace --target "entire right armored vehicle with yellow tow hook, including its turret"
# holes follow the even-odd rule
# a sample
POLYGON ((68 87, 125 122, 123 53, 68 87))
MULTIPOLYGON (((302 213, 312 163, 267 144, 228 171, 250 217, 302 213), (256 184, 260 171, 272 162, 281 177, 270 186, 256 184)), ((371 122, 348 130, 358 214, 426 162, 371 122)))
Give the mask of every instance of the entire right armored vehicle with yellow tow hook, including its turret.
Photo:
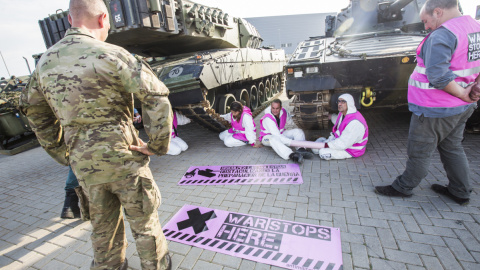
POLYGON ((325 36, 301 42, 286 65, 294 120, 326 129, 342 93, 360 108, 407 105, 415 50, 426 36, 419 18, 425 0, 351 0, 327 16, 325 36))

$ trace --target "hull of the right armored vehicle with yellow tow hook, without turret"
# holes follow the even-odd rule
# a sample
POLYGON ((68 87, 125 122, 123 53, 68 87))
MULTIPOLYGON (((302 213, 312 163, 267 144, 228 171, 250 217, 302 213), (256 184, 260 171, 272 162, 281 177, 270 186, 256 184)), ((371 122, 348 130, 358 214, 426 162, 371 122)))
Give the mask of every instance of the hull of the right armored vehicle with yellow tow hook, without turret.
POLYGON ((358 109, 407 105, 408 79, 423 38, 393 31, 300 44, 297 50, 303 54, 294 55, 286 66, 297 125, 327 129, 328 115, 337 111, 335 101, 343 93, 354 96, 358 109))

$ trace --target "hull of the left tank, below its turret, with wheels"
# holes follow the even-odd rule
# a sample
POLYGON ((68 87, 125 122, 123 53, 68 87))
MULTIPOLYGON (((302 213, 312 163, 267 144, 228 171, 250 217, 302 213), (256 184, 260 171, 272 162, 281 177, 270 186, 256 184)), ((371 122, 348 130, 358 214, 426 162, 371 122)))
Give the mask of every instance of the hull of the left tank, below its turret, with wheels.
POLYGON ((258 114, 282 91, 284 65, 283 50, 252 48, 196 52, 151 64, 170 90, 172 106, 214 131, 229 127, 219 114, 228 113, 235 100, 258 114))

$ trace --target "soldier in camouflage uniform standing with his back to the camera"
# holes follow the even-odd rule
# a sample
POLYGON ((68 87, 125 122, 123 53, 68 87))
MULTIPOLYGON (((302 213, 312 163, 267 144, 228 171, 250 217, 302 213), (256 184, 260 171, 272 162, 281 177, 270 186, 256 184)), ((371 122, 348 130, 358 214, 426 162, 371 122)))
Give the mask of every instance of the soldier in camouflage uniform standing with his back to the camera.
POLYGON ((21 108, 42 147, 71 165, 86 192, 91 269, 127 268, 122 206, 142 269, 170 269, 160 192, 148 167, 148 155, 168 151, 168 89, 146 63, 104 42, 110 23, 103 1, 71 0, 69 21, 72 28, 40 59, 21 108), (148 143, 133 127, 132 94, 142 102, 148 143))

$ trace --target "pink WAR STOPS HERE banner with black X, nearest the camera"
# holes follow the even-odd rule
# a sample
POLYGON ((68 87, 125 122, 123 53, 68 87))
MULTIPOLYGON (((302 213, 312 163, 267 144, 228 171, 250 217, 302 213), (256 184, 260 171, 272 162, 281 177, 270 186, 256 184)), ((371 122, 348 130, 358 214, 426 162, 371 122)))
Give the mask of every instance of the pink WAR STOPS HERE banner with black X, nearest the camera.
POLYGON ((163 227, 168 240, 287 269, 343 269, 340 230, 184 205, 163 227))

